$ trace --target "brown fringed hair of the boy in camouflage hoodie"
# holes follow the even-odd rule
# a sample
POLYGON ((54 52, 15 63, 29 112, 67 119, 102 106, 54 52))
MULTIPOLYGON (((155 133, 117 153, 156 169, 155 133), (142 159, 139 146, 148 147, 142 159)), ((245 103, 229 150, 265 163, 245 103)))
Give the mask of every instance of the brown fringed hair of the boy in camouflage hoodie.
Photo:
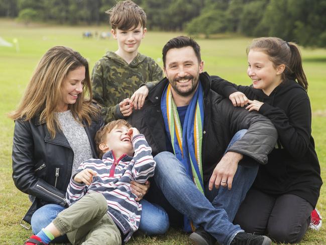
POLYGON ((119 2, 105 13, 110 15, 110 25, 114 30, 127 31, 131 28, 137 28, 139 24, 142 28, 146 27, 146 14, 133 1, 119 2))

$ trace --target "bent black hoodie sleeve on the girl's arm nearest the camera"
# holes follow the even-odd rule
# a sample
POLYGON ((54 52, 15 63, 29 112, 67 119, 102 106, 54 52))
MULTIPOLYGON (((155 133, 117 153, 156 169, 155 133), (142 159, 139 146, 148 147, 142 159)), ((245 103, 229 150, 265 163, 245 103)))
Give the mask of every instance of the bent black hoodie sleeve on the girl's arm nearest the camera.
POLYGON ((280 108, 264 103, 259 113, 268 117, 278 131, 282 146, 295 158, 304 156, 311 135, 311 109, 307 96, 294 98, 288 115, 280 108))

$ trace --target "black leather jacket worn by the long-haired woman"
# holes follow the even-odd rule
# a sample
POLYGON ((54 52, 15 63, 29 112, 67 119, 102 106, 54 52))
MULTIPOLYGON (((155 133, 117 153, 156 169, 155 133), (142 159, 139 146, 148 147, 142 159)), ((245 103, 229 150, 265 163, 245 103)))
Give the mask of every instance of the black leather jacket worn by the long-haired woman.
MULTIPOLYGON (((97 157, 94 137, 102 125, 103 120, 98 119, 85 127, 94 157, 97 157)), ((65 193, 71 177, 73 151, 62 132, 52 138, 39 117, 17 120, 12 159, 16 187, 33 200, 24 221, 30 223, 32 214, 45 204, 67 205, 65 193)))

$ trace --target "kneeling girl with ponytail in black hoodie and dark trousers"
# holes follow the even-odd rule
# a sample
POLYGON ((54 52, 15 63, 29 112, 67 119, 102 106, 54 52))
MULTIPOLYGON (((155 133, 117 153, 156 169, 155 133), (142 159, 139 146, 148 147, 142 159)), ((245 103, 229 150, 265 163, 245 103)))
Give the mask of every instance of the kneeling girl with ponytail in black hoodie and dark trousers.
POLYGON ((279 138, 234 223, 247 232, 269 234, 277 242, 299 242, 309 223, 314 229, 321 226, 313 209, 322 185, 300 51, 295 43, 268 37, 254 39, 247 53, 253 85, 220 81, 212 86, 234 106, 246 105, 268 117, 279 138))

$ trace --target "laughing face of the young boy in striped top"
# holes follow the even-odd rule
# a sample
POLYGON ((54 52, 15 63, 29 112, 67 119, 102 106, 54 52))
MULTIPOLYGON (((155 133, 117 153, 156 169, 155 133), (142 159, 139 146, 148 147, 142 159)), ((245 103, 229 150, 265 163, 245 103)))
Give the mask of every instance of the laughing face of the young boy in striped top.
POLYGON ((132 156, 134 147, 131 142, 129 128, 125 125, 113 128, 110 133, 106 134, 105 142, 101 143, 99 148, 103 152, 113 150, 118 158, 125 153, 132 156))

